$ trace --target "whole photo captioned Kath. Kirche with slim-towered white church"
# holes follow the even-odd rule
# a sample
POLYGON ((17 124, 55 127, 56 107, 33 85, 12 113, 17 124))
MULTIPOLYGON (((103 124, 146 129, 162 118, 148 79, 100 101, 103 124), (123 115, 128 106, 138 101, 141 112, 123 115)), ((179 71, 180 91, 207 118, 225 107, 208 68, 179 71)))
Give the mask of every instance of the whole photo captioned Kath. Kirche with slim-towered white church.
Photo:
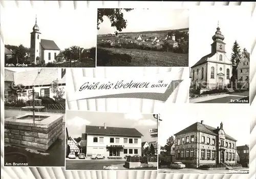
POLYGON ((2 13, 5 67, 95 67, 95 10, 8 9, 2 13))

